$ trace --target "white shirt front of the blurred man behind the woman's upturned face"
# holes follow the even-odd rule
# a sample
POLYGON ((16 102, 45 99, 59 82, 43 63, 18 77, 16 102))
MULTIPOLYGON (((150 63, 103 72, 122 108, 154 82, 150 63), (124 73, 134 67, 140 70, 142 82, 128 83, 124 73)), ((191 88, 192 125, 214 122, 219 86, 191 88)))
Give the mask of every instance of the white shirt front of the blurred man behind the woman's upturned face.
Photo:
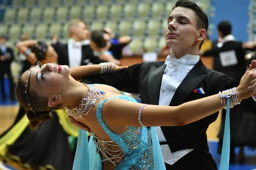
POLYGON ((67 42, 68 48, 68 59, 69 59, 69 67, 78 67, 81 65, 82 59, 82 45, 90 44, 90 40, 83 40, 76 42, 72 38, 70 38, 67 42))

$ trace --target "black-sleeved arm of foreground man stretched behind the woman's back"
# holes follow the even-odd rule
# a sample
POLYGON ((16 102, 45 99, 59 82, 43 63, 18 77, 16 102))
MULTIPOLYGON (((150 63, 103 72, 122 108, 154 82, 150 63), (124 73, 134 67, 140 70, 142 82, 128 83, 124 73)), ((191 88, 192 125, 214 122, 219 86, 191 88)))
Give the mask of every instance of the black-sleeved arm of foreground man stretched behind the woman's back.
POLYGON ((86 84, 105 84, 128 93, 139 93, 140 68, 143 63, 135 64, 127 69, 113 71, 84 78, 86 84))

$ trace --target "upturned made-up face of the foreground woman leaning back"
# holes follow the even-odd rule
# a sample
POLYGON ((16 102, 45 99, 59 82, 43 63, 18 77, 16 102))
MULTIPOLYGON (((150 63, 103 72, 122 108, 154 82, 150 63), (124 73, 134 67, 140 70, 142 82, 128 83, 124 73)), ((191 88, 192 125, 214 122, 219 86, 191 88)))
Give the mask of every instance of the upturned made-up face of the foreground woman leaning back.
POLYGON ((64 91, 70 71, 67 65, 48 63, 42 66, 37 65, 31 70, 34 71, 26 71, 22 75, 22 78, 26 79, 29 77, 28 74, 31 74, 29 91, 36 91, 39 96, 47 96, 49 99, 64 91))

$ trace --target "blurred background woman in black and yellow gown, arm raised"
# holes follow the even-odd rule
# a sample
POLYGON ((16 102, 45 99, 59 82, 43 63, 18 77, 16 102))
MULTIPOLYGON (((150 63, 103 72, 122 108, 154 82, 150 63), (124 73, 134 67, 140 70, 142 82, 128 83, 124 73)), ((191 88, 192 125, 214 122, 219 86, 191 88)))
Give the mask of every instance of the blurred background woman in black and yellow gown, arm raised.
MULTIPOLYGON (((25 62, 29 65, 58 60, 52 46, 37 40, 18 42, 17 49, 20 54, 26 56, 25 62)), ((53 119, 42 123, 37 131, 33 131, 29 127, 26 111, 20 106, 15 122, 0 136, 0 156, 3 160, 7 164, 24 169, 70 170, 74 153, 68 137, 77 137, 78 128, 69 123, 69 119, 63 114, 64 111, 58 112, 52 111, 53 119)))

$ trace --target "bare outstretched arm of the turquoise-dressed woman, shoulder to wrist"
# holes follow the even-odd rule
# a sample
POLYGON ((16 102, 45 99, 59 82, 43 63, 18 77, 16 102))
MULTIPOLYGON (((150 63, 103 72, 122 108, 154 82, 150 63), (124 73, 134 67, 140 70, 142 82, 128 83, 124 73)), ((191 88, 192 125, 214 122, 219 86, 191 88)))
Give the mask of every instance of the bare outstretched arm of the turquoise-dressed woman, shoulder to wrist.
MULTIPOLYGON (((111 99, 105 102, 102 108, 102 117, 107 125, 108 123, 115 123, 141 127, 138 115, 142 105, 124 99, 111 99)), ((141 121, 148 127, 182 126, 209 116, 222 108, 218 94, 176 107, 146 105, 141 113, 141 121)))

